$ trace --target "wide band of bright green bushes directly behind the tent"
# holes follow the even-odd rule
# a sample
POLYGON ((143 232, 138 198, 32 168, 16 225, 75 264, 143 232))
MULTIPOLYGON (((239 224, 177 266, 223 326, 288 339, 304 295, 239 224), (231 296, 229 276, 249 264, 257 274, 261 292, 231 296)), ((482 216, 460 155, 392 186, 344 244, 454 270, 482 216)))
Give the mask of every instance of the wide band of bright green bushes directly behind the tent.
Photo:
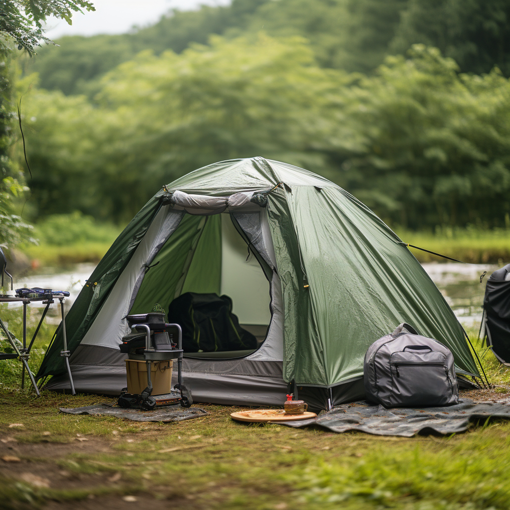
POLYGON ((303 39, 215 37, 139 54, 93 101, 34 90, 33 201, 44 214, 125 221, 188 171, 263 155, 325 174, 392 225, 502 227, 509 107, 497 70, 459 74, 423 45, 367 77, 319 67, 303 39))

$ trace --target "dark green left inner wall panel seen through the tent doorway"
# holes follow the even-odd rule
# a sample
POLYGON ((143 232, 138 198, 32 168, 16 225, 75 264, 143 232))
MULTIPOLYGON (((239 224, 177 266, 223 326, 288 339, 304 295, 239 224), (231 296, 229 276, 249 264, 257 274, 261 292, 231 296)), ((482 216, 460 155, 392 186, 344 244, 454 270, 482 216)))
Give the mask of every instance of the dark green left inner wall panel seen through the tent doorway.
POLYGON ((131 308, 131 314, 151 312, 155 303, 168 310, 175 295, 180 295, 208 216, 185 214, 175 232, 168 238, 143 278, 131 308))

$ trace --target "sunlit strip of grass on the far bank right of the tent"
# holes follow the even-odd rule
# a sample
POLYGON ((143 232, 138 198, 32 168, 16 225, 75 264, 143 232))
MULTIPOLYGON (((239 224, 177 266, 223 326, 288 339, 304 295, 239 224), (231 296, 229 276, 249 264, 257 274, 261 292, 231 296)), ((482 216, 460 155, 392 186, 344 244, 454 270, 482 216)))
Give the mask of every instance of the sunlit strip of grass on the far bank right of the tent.
MULTIPOLYGON (((445 228, 436 233, 397 231, 402 241, 472 264, 506 264, 510 261, 510 230, 445 228)), ((420 262, 444 259, 410 248, 420 262)))

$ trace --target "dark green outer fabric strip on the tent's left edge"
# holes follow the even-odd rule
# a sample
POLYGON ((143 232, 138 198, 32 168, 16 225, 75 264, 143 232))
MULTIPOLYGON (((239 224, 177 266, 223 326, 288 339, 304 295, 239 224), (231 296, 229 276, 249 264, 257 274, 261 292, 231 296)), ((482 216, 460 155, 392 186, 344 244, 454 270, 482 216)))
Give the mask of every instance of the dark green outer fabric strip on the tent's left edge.
MULTIPOLYGON (((89 282, 92 284, 97 282, 97 285, 85 285, 74 301, 66 315, 67 348, 71 353, 87 333, 120 273, 147 232, 147 228, 159 210, 162 198, 166 195, 167 193, 160 191, 152 197, 124 228, 90 276, 89 282)), ((37 379, 46 375, 64 373, 64 358, 60 355, 63 345, 62 325, 60 325, 55 341, 37 372, 37 379)))

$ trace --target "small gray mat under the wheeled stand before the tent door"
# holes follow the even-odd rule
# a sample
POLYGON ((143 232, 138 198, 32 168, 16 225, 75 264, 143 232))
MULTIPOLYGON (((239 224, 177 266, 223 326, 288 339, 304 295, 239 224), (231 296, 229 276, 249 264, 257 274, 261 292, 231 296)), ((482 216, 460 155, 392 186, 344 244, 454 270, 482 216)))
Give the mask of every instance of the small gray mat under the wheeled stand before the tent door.
POLYGON ((65 414, 73 415, 100 415, 100 416, 116 416, 117 418, 125 418, 126 420, 135 421, 184 421, 192 418, 206 416, 209 413, 199 407, 189 407, 185 409, 180 404, 159 407, 152 411, 141 411, 139 409, 122 409, 122 407, 114 407, 109 404, 87 405, 86 407, 74 407, 67 409, 59 407, 59 411, 65 414))

